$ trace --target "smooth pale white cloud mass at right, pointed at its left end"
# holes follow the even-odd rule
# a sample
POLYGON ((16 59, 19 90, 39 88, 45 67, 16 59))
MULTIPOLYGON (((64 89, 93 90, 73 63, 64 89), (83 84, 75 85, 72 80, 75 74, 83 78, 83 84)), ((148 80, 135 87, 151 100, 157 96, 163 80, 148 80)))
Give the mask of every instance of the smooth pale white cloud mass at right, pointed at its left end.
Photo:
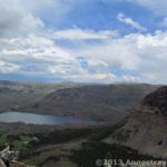
POLYGON ((151 84, 167 82, 167 32, 157 31, 153 36, 134 33, 102 45, 79 48, 73 53, 104 62, 98 69, 102 67, 104 72, 115 73, 119 80, 135 78, 151 84))

